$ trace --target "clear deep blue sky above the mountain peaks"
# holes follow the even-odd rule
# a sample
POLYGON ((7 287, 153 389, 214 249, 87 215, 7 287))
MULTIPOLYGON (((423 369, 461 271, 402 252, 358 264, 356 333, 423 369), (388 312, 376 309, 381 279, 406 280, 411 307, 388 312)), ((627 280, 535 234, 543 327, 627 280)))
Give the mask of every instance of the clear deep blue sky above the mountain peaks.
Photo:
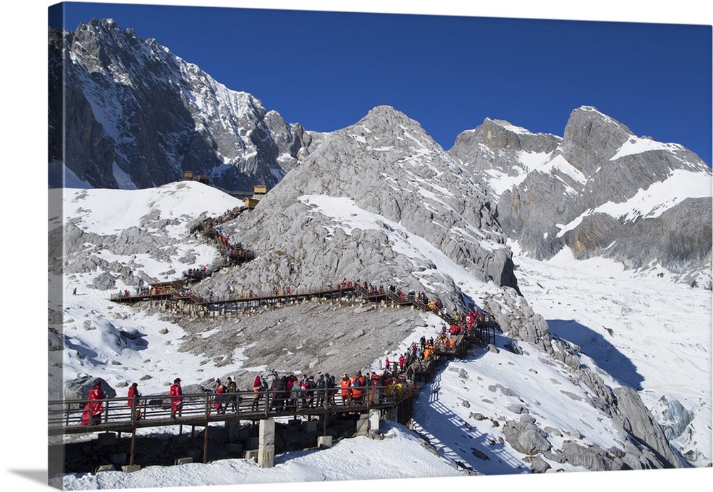
POLYGON ((563 135, 575 108, 595 106, 712 162, 710 25, 65 6, 67 29, 112 18, 308 130, 344 128, 388 104, 448 150, 484 118, 563 135))

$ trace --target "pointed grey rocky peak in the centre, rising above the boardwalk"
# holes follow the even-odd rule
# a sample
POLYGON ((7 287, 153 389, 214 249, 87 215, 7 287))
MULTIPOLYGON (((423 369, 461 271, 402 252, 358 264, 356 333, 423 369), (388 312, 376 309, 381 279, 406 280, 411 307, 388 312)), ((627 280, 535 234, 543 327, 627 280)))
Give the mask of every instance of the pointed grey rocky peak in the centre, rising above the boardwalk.
POLYGON ((434 255, 401 250, 399 240, 408 237, 425 240, 478 279, 517 287, 511 252, 480 185, 418 123, 388 106, 328 135, 255 210, 223 229, 255 245, 257 258, 205 282, 215 294, 231 280, 314 286, 343 277, 377 285, 398 279, 404 291, 440 285, 443 302, 462 307, 458 286, 437 269, 434 255), (339 201, 321 211, 323 197, 339 201), (376 225, 345 227, 328 216, 332 207, 378 216, 376 225))

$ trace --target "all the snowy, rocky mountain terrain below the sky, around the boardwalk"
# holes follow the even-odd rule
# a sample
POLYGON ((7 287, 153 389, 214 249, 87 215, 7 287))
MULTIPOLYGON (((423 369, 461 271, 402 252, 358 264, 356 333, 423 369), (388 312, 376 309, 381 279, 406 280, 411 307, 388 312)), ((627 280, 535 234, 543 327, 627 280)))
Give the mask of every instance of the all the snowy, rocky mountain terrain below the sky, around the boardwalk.
MULTIPOLYGON (((417 434, 389 424, 386 444, 327 451, 354 460, 334 476, 710 465, 712 303, 689 285, 711 285, 711 172, 688 150, 589 107, 563 138, 486 120, 448 152, 389 106, 316 134, 112 21, 51 31, 50 48, 51 79, 66 76, 51 105, 71 110, 66 138, 50 121, 51 170, 66 185, 50 190, 61 203, 49 220, 52 399, 89 376, 117 394, 133 381, 163 394, 175 376, 195 387, 232 376, 244 388, 270 369, 378 370, 441 329, 434 314, 387 306, 202 318, 109 300, 190 267, 220 267, 193 286, 205 296, 346 277, 424 291, 451 311, 486 309, 503 333, 421 389, 417 434), (220 225, 255 260, 225 265, 193 232, 242 202, 176 182, 187 169, 231 190, 270 185, 255 210, 220 225), (362 473, 364 454, 386 448, 416 459, 362 473)), ((327 462, 313 456, 277 461, 284 470, 270 479, 331 476, 285 473, 327 462)), ((245 463, 224 468, 220 479, 198 463, 182 473, 185 483, 270 480, 245 463)), ((102 486, 162 484, 160 472, 142 472, 102 486)))

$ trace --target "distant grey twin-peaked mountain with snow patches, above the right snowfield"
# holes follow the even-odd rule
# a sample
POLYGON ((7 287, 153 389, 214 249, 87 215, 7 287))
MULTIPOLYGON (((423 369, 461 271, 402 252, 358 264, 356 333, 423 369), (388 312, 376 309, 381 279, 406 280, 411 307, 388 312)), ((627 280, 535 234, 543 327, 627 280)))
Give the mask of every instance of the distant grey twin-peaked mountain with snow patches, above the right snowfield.
POLYGON ((563 138, 486 120, 448 153, 488 183, 525 254, 546 259, 568 246, 711 287, 712 174, 681 145, 637 137, 583 106, 563 138))

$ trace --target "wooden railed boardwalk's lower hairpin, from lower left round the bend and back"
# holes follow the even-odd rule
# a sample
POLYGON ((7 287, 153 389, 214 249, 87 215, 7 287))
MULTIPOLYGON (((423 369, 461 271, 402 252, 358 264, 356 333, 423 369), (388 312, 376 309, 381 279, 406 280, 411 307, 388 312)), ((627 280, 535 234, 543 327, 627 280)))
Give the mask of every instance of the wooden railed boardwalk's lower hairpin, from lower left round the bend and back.
MULTIPOLYGON (((50 401, 48 412, 49 435, 76 435, 91 433, 127 433, 131 435, 130 460, 133 464, 136 433, 138 429, 160 429, 168 426, 178 426, 179 434, 183 434, 184 426, 190 426, 191 435, 196 427, 202 427, 203 461, 207 462, 208 429, 210 424, 224 423, 240 426, 241 421, 256 421, 264 419, 317 419, 322 421, 322 435, 327 435, 327 421, 344 415, 368 414, 373 410, 385 412, 387 418, 394 419, 399 424, 408 425, 413 416, 414 400, 419 392, 418 381, 427 381, 438 371, 447 359, 463 358, 468 349, 474 345, 494 342, 496 331, 499 330, 495 320, 486 314, 478 314, 471 318, 467 325, 462 319, 453 316, 443 309, 440 303, 427 302, 424 297, 404 295, 382 289, 374 289, 368 285, 343 282, 339 285, 327 285, 312 289, 285 289, 273 291, 272 294, 249 292, 247 297, 231 297, 227 299, 205 299, 195 296, 190 290, 174 288, 148 290, 132 294, 120 294, 112 297, 115 302, 135 304, 136 302, 156 301, 169 302, 178 306, 202 309, 204 312, 215 312, 232 307, 233 309, 255 309, 265 306, 287 306, 295 302, 312 299, 329 299, 330 302, 376 302, 393 307, 412 307, 424 312, 433 312, 444 322, 462 327, 457 334, 450 335, 452 346, 446 346, 436 341, 431 345, 428 357, 409 357, 404 367, 397 368, 394 361, 392 383, 388 386, 366 386, 361 389, 360 399, 344 399, 340 387, 332 389, 309 390, 311 396, 290 400, 292 391, 261 391, 255 399, 252 391, 242 391, 235 394, 216 395, 212 391, 201 394, 185 394, 181 396, 181 410, 177 418, 172 418, 172 397, 170 395, 140 396, 132 399, 129 406, 128 398, 112 398, 102 401, 101 415, 88 422, 82 421, 86 400, 50 401), (468 326, 468 328, 466 328, 468 326)), ((443 326, 439 339, 448 337, 443 326)), ((418 347, 409 347, 409 354, 415 354, 418 347)), ((297 390, 304 395, 304 390, 297 390)))

